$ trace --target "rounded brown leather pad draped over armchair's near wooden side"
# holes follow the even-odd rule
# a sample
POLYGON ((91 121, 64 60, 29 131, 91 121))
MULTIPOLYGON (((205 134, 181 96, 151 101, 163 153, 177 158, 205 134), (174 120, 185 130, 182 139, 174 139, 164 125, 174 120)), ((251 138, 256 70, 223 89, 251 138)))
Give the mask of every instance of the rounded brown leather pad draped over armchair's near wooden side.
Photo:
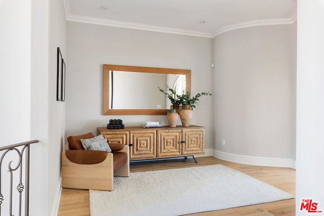
POLYGON ((65 155, 73 163, 96 164, 101 163, 107 157, 106 151, 67 150, 65 155))

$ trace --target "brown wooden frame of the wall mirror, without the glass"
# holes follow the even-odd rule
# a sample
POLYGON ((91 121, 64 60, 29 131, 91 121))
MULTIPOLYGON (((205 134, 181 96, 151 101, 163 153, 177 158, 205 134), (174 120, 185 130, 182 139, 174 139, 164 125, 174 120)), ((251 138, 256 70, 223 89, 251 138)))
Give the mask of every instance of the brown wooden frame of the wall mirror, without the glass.
MULTIPOLYGON (((186 75, 186 91, 191 90, 191 70, 138 67, 123 65, 103 65, 103 115, 166 115, 169 109, 110 109, 109 108, 109 71, 128 71, 160 74, 186 75)), ((157 87, 156 87, 157 88, 157 87)))

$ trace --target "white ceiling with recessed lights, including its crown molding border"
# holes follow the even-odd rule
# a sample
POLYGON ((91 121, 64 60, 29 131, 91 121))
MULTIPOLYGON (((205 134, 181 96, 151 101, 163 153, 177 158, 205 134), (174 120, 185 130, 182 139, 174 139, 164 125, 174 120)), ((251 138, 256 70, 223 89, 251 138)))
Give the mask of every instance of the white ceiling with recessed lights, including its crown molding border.
POLYGON ((203 37, 290 24, 297 17, 296 0, 64 0, 64 4, 68 21, 203 37))

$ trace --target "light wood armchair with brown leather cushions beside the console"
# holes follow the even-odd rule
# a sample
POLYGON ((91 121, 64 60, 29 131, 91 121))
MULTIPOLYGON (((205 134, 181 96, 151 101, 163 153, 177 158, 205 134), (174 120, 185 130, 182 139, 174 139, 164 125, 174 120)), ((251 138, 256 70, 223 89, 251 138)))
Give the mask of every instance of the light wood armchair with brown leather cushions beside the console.
POLYGON ((129 146, 109 143, 111 153, 84 150, 81 139, 94 137, 92 133, 67 138, 62 152, 63 188, 113 190, 113 177, 129 177, 129 146))

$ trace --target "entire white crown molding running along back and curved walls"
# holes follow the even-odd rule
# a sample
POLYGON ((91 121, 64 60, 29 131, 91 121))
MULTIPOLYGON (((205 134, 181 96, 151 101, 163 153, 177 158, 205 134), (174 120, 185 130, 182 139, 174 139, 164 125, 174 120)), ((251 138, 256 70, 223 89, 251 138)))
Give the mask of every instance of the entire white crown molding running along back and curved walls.
POLYGON ((85 16, 76 16, 71 14, 69 0, 64 0, 64 7, 65 7, 65 16, 67 21, 81 22, 81 23, 88 23, 88 24, 95 24, 95 25, 105 25, 105 26, 112 26, 112 27, 119 27, 119 28, 130 28, 130 29, 145 30, 145 31, 155 31, 155 32, 163 32, 163 33, 171 33, 171 34, 208 37, 208 38, 214 38, 219 34, 222 34, 227 31, 235 30, 235 29, 247 28, 253 26, 262 26, 262 25, 292 24, 297 20, 297 10, 296 10, 293 13, 293 15, 289 18, 264 19, 264 20, 252 20, 247 22, 240 22, 233 25, 224 26, 218 29, 216 32, 211 33, 205 31, 193 31, 193 30, 186 30, 186 29, 179 29, 179 28, 169 28, 169 27, 146 25, 140 23, 107 20, 107 19, 85 17, 85 16))

